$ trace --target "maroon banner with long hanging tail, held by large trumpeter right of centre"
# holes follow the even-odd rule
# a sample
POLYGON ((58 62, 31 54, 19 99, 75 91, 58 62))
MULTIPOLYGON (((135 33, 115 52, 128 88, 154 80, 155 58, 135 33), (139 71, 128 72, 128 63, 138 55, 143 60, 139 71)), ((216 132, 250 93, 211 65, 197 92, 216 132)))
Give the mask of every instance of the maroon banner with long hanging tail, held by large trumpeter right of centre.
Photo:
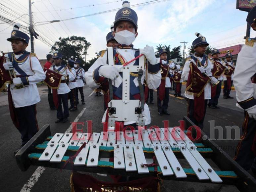
POLYGON ((194 118, 197 121, 204 117, 204 88, 209 81, 208 76, 204 76, 193 63, 190 64, 186 92, 194 95, 194 118))

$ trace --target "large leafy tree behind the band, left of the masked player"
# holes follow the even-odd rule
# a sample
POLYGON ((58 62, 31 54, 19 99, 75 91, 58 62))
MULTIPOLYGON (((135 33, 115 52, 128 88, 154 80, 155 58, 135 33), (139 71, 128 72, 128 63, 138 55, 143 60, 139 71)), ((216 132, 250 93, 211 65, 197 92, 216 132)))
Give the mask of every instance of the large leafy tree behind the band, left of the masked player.
POLYGON ((63 54, 63 59, 67 60, 71 56, 77 58, 84 64, 82 60, 82 55, 84 55, 91 44, 86 40, 85 37, 71 36, 67 38, 59 38, 59 41, 56 41, 51 48, 50 53, 54 53, 55 49, 58 48, 63 54))

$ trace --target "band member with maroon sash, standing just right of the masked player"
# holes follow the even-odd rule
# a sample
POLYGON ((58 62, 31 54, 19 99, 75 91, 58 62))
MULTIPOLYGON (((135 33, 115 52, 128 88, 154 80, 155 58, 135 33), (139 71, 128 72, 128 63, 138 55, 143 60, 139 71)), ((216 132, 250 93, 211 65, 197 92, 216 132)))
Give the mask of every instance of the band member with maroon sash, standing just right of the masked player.
POLYGON ((161 49, 160 54, 160 71, 162 75, 162 80, 157 88, 157 109, 158 115, 170 115, 167 111, 169 103, 169 89, 171 87, 170 82, 170 67, 167 61, 167 52, 166 49, 161 49), (163 101, 163 104, 162 104, 163 101))

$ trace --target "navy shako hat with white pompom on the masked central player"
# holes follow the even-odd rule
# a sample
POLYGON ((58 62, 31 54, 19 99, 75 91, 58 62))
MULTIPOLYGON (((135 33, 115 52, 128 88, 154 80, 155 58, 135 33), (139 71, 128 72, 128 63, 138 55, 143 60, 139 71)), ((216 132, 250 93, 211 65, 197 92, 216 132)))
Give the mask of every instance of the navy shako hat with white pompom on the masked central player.
POLYGON ((138 28, 138 16, 134 10, 130 8, 130 3, 128 1, 123 2, 123 8, 119 9, 115 21, 114 21, 114 30, 116 30, 117 23, 120 21, 129 21, 135 25, 135 28, 138 28))

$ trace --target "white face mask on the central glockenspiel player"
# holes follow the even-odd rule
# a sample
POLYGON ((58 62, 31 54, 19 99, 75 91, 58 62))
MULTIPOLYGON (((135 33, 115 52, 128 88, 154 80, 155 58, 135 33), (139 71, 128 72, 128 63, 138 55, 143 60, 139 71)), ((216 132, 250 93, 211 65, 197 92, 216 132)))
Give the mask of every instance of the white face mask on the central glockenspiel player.
POLYGON ((116 41, 122 45, 130 45, 136 38, 136 33, 132 33, 128 30, 123 30, 115 33, 116 41))

